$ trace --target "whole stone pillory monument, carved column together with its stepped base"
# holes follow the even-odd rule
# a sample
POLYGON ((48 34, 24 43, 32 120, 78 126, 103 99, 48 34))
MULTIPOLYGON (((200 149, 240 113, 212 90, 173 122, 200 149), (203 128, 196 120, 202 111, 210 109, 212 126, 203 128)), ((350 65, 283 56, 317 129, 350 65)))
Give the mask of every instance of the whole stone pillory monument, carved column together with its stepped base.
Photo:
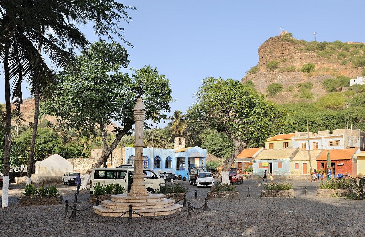
MULTIPOLYGON (((182 205, 175 204, 174 200, 166 199, 166 195, 147 193, 145 174, 143 174, 143 123, 146 118, 146 108, 141 98, 138 98, 133 108, 135 121, 135 161, 133 183, 128 194, 112 195, 111 200, 101 201, 102 205, 94 206, 96 214, 104 217, 118 217, 129 210, 144 216, 169 215, 181 211, 182 205)), ((125 215, 127 217, 127 215, 125 215)), ((139 217, 133 213, 133 217, 139 217)))

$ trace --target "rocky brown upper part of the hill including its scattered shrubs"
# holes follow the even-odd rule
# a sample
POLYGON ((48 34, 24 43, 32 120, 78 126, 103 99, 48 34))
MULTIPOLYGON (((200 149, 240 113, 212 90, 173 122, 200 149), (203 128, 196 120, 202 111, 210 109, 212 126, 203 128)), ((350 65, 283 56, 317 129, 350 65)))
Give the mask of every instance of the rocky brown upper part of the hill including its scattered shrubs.
POLYGON ((258 64, 247 72, 241 83, 252 81, 258 92, 277 103, 316 101, 326 94, 324 80, 340 75, 356 78, 362 74, 359 64, 365 57, 364 51, 364 44, 306 42, 293 38, 290 33, 281 34, 258 48, 258 64), (303 65, 308 63, 314 64, 314 69, 302 72, 303 65), (312 84, 312 88, 301 95, 301 85, 305 82, 312 84), (270 96, 267 87, 272 83, 280 83, 283 90, 270 96))

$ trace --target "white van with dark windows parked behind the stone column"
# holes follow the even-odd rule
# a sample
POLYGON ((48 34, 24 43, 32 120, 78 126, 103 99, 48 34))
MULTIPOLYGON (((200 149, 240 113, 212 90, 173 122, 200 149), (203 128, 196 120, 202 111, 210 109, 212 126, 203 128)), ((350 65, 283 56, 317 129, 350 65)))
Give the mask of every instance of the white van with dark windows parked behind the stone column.
MULTIPOLYGON (((108 184, 120 184, 124 187, 124 190, 130 190, 133 183, 132 176, 134 173, 134 167, 120 166, 116 168, 94 168, 91 172, 90 180, 90 194, 94 193, 94 184, 100 183, 105 185, 108 184)), ((160 178, 153 170, 143 169, 143 173, 146 175, 145 184, 148 193, 154 193, 155 190, 160 190, 161 186, 165 186, 165 180, 160 178)))

